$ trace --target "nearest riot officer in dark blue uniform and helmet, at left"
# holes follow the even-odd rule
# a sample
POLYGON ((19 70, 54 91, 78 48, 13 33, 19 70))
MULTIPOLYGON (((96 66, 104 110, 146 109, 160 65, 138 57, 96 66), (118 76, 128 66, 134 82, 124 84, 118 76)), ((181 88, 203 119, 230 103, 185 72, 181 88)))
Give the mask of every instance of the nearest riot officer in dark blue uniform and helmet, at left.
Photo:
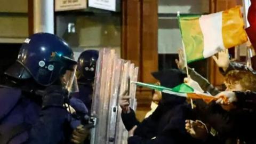
POLYGON ((63 107, 74 90, 76 66, 73 51, 59 37, 38 33, 25 40, 18 59, 5 72, 14 88, 0 89, 1 144, 78 143, 88 134, 73 132, 72 118, 63 107))

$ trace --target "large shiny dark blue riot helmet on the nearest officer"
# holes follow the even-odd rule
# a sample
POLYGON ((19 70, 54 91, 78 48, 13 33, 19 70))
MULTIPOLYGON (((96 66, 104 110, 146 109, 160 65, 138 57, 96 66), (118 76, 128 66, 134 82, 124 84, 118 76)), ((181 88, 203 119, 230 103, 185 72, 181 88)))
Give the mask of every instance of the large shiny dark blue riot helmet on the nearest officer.
POLYGON ((37 33, 25 40, 18 59, 5 74, 17 79, 32 77, 39 85, 47 86, 76 65, 66 42, 53 34, 37 33))

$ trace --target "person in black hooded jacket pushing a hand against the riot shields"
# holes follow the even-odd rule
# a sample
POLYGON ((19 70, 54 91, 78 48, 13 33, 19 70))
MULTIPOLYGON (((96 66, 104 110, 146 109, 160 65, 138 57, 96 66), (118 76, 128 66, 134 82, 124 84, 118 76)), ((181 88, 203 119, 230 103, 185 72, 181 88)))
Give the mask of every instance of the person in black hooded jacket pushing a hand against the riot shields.
MULTIPOLYGON (((183 82, 186 74, 177 69, 153 73, 161 85, 174 87, 183 82)), ((141 123, 135 118, 134 111, 129 107, 129 96, 123 95, 120 101, 122 120, 129 131, 129 144, 134 143, 197 143, 185 130, 186 117, 194 118, 186 98, 171 94, 162 94, 162 100, 152 115, 141 123)))

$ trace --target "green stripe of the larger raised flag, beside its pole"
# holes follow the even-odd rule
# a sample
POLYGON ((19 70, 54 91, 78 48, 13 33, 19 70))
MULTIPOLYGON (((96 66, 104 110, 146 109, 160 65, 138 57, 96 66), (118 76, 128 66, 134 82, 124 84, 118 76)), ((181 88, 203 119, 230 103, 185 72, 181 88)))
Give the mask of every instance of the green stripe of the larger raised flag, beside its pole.
POLYGON ((185 45, 187 62, 204 59, 204 37, 199 25, 199 16, 179 17, 181 36, 185 45))

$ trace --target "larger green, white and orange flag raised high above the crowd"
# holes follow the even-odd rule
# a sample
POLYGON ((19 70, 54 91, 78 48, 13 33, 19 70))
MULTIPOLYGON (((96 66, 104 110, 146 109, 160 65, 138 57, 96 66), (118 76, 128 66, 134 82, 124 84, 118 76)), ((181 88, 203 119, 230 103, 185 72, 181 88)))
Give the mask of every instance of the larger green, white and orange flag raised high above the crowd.
POLYGON ((187 62, 247 41, 240 6, 207 15, 180 15, 179 25, 187 62))

